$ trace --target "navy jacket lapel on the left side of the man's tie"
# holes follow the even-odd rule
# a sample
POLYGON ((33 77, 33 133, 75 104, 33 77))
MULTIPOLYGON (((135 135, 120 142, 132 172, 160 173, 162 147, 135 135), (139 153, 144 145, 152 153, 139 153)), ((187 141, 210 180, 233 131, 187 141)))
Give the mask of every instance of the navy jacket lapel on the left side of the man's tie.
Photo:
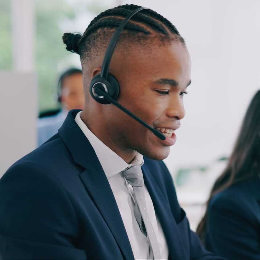
POLYGON ((134 259, 124 223, 108 179, 94 149, 74 120, 79 111, 72 110, 69 112, 59 129, 59 135, 70 150, 73 160, 86 169, 80 174, 80 178, 116 239, 124 258, 134 259))

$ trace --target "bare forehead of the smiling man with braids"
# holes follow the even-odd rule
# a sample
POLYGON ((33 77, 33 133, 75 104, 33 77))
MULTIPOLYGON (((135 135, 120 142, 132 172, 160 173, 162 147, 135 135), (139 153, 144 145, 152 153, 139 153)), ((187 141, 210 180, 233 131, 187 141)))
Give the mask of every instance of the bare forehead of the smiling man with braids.
POLYGON ((190 80, 191 61, 187 48, 179 41, 164 44, 151 43, 136 48, 124 60, 122 68, 129 76, 147 80, 175 79, 187 84, 190 80))

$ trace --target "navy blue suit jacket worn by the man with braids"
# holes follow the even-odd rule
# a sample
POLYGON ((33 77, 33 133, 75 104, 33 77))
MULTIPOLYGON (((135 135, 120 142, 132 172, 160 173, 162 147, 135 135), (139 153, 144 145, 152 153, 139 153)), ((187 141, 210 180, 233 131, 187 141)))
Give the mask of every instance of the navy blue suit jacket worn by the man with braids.
MULTIPOLYGON (((77 112, 1 178, 0 258, 134 259, 107 177, 74 120, 77 112)), ((164 163, 144 160, 170 258, 220 259, 190 230, 164 163)))

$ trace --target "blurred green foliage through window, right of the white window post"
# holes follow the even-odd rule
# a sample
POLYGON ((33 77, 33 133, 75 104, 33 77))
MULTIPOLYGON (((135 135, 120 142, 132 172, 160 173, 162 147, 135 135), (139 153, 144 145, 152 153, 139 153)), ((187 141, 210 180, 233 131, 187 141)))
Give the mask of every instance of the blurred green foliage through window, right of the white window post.
POLYGON ((39 110, 57 108, 55 94, 58 80, 58 63, 69 66, 70 53, 63 42, 59 22, 74 19, 74 10, 64 0, 35 1, 36 14, 36 71, 38 75, 39 110), (67 58, 67 59, 66 59, 67 58))

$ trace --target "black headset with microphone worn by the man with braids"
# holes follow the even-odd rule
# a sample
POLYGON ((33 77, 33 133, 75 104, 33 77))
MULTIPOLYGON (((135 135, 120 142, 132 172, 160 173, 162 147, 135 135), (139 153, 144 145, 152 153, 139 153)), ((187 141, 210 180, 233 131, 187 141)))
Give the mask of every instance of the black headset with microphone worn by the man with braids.
MULTIPOLYGON (((146 124, 143 120, 132 114, 129 110, 124 108, 122 105, 116 102, 119 93, 120 93, 120 86, 117 81, 117 79, 108 73, 109 65, 111 62, 111 58, 113 55, 113 52, 116 47, 116 43, 118 42, 118 39, 120 37, 121 32, 124 29, 124 26, 126 23, 132 18, 133 15, 140 12, 141 10, 149 9, 146 7, 139 7, 135 10, 133 10, 128 16, 124 19, 124 21, 116 28, 116 31, 114 32, 112 39, 110 40, 108 44, 107 51, 105 53, 105 57, 102 63, 101 72, 98 75, 95 75, 90 83, 90 94, 91 96, 100 104, 114 104, 116 107, 121 109, 123 112, 125 112, 128 116, 131 116, 133 119, 135 119, 137 122, 142 124, 144 127, 148 128, 150 131, 152 131, 153 134, 155 134, 158 138, 161 140, 165 140, 165 136, 159 132, 158 130, 150 127, 148 124, 146 124)), ((149 9, 150 10, 150 9, 149 9)))

